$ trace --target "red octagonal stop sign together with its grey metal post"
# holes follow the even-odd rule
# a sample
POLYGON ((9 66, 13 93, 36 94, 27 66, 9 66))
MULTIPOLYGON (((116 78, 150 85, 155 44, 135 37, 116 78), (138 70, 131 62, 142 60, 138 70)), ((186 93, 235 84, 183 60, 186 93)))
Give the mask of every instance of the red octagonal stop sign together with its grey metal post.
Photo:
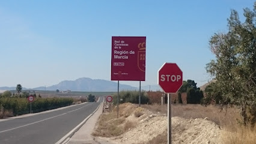
POLYGON ((168 144, 171 143, 171 96, 180 89, 183 74, 175 63, 166 63, 158 71, 158 84, 168 94, 168 144))

